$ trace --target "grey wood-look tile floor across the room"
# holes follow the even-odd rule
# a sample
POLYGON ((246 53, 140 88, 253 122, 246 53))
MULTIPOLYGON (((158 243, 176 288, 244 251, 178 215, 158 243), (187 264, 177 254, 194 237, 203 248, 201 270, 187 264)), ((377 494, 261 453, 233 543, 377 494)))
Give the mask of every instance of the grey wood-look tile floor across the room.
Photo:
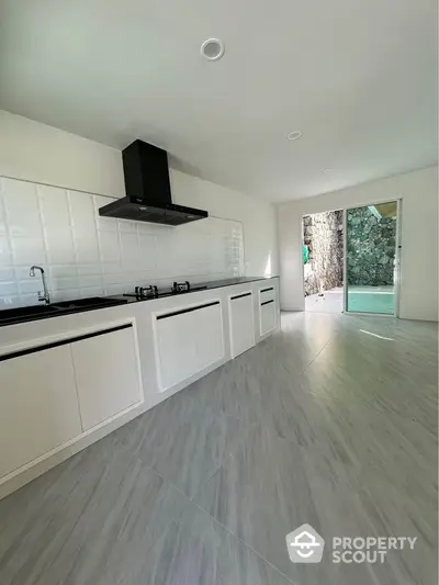
POLYGON ((0 502, 1 585, 437 583, 434 324, 282 330, 0 502), (417 537, 293 564, 285 536, 417 537))

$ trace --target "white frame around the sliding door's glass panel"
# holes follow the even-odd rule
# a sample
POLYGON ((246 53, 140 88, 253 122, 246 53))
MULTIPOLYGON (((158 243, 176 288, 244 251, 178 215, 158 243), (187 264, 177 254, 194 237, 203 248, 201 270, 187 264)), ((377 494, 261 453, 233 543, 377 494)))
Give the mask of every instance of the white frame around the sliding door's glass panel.
POLYGON ((386 201, 379 201, 376 203, 364 203, 359 205, 352 205, 350 207, 344 207, 344 314, 345 315, 367 315, 376 317, 399 317, 399 289, 401 289, 401 214, 402 214, 402 199, 390 199, 386 201), (396 237, 395 237, 395 266, 393 271, 393 285, 394 285, 394 311, 393 313, 357 313, 353 311, 347 311, 348 307, 348 255, 347 255, 347 237, 348 237, 348 221, 347 215, 349 210, 357 210, 359 207, 369 207, 371 205, 381 205, 382 203, 392 203, 396 201, 396 237))

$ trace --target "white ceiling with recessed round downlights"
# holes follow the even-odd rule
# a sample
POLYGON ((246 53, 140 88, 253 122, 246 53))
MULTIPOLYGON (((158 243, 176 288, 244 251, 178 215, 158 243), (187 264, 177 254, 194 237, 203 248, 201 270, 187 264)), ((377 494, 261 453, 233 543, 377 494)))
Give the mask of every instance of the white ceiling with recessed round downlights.
POLYGON ((0 108, 269 201, 436 164, 437 68, 436 0, 0 0, 0 108))

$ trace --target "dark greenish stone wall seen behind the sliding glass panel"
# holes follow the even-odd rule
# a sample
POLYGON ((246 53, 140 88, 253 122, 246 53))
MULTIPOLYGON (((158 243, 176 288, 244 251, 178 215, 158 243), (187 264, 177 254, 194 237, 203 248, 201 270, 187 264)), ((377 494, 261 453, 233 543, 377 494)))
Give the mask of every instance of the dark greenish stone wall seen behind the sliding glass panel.
POLYGON ((347 214, 348 284, 393 284, 396 217, 376 217, 369 207, 347 214))

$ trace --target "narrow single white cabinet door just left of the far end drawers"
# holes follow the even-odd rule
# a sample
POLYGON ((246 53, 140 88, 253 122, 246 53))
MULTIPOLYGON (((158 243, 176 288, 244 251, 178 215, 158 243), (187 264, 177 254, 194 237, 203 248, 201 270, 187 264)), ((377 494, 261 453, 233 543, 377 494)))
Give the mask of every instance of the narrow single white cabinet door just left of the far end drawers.
POLYGON ((254 295, 245 292, 229 296, 230 347, 236 358, 255 345, 254 295))

